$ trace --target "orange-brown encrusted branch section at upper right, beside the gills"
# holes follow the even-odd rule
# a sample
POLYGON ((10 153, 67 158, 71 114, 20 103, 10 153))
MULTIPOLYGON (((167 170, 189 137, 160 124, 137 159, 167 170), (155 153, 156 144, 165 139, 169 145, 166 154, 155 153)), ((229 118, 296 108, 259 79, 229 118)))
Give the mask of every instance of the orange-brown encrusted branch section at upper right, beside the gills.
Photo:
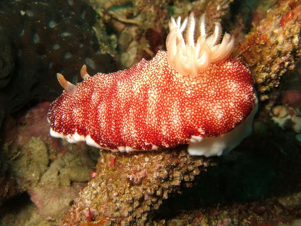
POLYGON ((281 76, 301 56, 301 5, 297 0, 278 1, 258 26, 245 37, 238 54, 251 68, 260 100, 268 98, 281 76))

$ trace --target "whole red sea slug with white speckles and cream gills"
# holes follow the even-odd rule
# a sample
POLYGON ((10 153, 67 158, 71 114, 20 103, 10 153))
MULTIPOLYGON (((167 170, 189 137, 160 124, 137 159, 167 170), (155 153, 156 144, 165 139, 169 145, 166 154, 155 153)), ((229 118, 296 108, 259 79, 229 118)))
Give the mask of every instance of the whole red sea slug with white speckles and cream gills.
POLYGON ((229 152, 252 130, 257 111, 247 65, 231 58, 234 39, 216 24, 207 37, 205 16, 171 18, 167 51, 115 73, 74 85, 58 74, 64 92, 48 113, 50 135, 112 152, 158 150, 188 144, 191 155, 229 152), (185 38, 183 38, 183 34, 185 38))

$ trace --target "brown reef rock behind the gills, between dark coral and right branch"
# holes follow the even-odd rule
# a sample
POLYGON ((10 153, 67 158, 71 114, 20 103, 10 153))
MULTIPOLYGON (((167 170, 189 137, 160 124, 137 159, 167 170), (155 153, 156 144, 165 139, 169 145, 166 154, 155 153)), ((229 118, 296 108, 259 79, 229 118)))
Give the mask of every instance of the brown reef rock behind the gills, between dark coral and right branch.
POLYGON ((112 32, 112 46, 118 49, 123 68, 152 59, 158 50, 165 48, 169 17, 186 17, 194 12, 197 17, 206 13, 207 30, 214 22, 229 15, 233 0, 218 1, 103 1, 88 0, 112 32))

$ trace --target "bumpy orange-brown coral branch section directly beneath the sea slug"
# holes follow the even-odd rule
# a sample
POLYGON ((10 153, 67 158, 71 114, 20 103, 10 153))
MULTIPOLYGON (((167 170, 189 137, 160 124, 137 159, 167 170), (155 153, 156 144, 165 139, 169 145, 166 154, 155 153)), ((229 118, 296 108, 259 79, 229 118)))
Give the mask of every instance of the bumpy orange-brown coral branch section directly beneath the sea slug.
POLYGON ((143 225, 171 192, 179 191, 181 184, 191 186, 209 161, 189 156, 186 146, 130 155, 102 151, 95 178, 61 224, 143 225))

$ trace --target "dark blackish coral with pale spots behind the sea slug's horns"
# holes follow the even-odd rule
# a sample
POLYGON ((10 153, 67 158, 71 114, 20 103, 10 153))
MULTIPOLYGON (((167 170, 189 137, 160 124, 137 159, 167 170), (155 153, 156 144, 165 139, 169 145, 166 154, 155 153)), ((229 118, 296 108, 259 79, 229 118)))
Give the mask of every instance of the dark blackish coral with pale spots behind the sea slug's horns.
POLYGON ((115 68, 104 51, 105 39, 100 47, 93 31, 96 13, 83 0, 10 0, 0 4, 0 15, 2 112, 14 112, 32 99, 55 99, 62 92, 57 72, 76 83, 83 64, 90 73, 115 68))

